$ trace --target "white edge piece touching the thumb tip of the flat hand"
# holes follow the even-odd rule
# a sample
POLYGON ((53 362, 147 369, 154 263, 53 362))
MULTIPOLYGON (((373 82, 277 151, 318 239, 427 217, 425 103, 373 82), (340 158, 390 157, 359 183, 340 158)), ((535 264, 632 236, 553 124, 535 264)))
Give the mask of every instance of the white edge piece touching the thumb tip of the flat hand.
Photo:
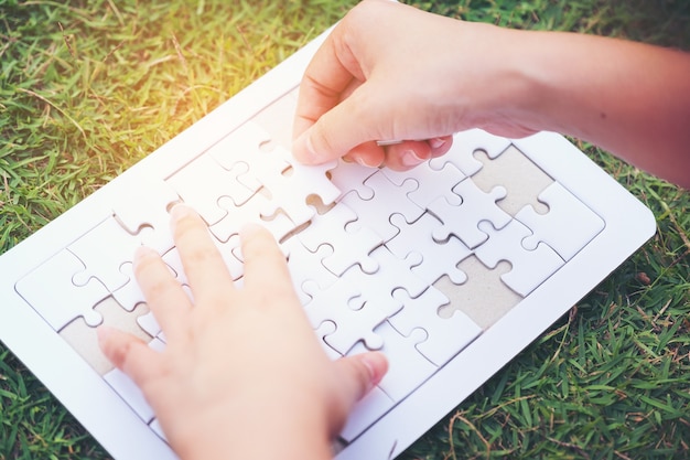
MULTIPOLYGON (((427 334, 421 329, 414 329, 409 336, 401 335, 388 321, 374 332, 384 340, 380 351, 388 359, 388 372, 378 386, 393 402, 400 402, 436 372, 438 367, 417 351, 417 345, 425 340, 427 334)), ((367 351, 358 343, 347 355, 367 351)))

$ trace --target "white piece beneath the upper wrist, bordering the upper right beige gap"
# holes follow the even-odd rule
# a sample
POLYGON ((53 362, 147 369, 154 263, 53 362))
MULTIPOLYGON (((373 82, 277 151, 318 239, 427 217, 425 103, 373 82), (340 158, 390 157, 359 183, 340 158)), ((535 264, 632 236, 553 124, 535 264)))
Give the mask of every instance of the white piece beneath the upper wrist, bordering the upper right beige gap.
POLYGON ((432 169, 440 170, 446 163, 454 164, 467 176, 474 175, 483 164, 474 157, 477 150, 484 151, 492 159, 498 157, 510 145, 510 140, 489 135, 481 129, 468 129, 453 136, 453 146, 442 157, 431 159, 432 169))

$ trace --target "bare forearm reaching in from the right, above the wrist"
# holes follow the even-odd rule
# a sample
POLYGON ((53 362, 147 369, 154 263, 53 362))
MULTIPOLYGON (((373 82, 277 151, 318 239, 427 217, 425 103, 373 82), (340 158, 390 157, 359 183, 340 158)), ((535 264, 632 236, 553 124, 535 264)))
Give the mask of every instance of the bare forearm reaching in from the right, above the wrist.
POLYGON ((574 33, 507 32, 515 55, 505 62, 525 78, 513 95, 515 116, 690 189, 690 54, 574 33))

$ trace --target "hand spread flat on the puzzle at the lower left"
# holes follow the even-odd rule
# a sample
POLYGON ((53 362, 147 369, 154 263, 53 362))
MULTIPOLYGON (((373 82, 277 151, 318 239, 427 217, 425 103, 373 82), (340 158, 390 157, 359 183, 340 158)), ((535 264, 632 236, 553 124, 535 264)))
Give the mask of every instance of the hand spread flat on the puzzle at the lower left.
POLYGON ((385 357, 326 357, 266 229, 240 235, 241 289, 190 207, 172 210, 172 229, 194 302, 158 254, 142 248, 134 274, 166 349, 101 329, 104 353, 139 385, 183 459, 330 458, 330 440, 380 381, 385 357))

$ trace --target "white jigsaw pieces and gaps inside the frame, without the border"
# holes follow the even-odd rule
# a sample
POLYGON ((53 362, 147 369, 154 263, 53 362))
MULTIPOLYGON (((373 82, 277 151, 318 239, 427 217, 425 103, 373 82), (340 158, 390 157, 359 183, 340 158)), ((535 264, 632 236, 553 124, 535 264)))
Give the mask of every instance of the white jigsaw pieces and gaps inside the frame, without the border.
POLYGON ((131 258, 138 245, 150 245, 186 285, 168 231, 173 203, 200 212, 236 280, 242 272, 239 227, 247 221, 269 227, 328 355, 387 354, 390 371, 356 409, 345 442, 462 352, 604 226, 596 212, 509 141, 478 130, 459 133, 448 156, 407 172, 344 161, 303 167, 283 147, 285 133, 276 140, 259 124, 279 126, 268 120, 294 104, 289 93, 271 106, 274 114, 269 107, 164 182, 145 183, 144 195, 131 194, 139 185, 128 188, 108 218, 15 285, 147 424, 154 420, 152 410, 127 376, 95 351, 93 330, 114 323, 164 346, 132 279, 131 258), (40 285, 45 289, 34 288, 40 285))

